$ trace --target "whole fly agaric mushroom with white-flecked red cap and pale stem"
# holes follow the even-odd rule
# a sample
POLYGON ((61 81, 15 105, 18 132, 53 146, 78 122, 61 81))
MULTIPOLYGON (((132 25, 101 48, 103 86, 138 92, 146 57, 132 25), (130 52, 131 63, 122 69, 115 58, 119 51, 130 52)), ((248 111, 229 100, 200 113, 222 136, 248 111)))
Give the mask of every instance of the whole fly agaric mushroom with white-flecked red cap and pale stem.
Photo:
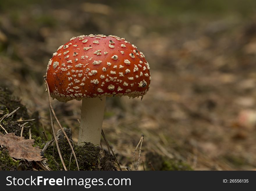
POLYGON ((143 98, 149 69, 144 54, 124 38, 90 34, 71 38, 53 53, 46 80, 53 99, 82 99, 78 144, 97 145, 106 96, 143 98))

